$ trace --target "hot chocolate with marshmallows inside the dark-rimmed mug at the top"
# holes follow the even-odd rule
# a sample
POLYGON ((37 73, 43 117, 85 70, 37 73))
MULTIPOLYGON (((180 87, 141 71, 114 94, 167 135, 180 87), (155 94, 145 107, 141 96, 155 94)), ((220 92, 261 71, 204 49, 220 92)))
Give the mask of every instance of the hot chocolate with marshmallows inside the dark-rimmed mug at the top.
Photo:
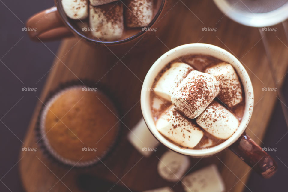
POLYGON ((161 0, 62 0, 71 24, 80 33, 101 41, 123 40, 149 30, 161 0))

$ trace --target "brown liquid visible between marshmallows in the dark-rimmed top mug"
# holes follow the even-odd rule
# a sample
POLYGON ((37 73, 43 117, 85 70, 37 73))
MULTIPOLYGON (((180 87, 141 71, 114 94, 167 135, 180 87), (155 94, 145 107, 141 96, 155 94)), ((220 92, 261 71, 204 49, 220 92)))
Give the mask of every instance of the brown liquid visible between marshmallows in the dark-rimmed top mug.
MULTIPOLYGON (((160 9, 161 6, 161 2, 162 0, 153 0, 153 18, 156 16, 158 10, 160 9)), ((124 9, 126 8, 125 5, 123 6, 124 9)), ((125 16, 125 15, 124 15, 125 16)), ((94 37, 91 32, 87 31, 87 32, 83 32, 82 28, 83 27, 89 27, 89 19, 84 19, 82 21, 79 20, 74 20, 74 19, 69 19, 70 23, 72 24, 72 26, 81 34, 83 34, 84 36, 87 36, 91 39, 95 39, 95 40, 99 40, 98 38, 94 37)), ((124 19, 125 21, 125 19, 124 19)), ((137 27, 137 28, 129 28, 125 25, 124 23, 124 32, 123 35, 120 39, 117 39, 116 41, 119 40, 123 40, 123 39, 127 39, 129 37, 132 37, 134 35, 136 35, 139 32, 142 32, 142 28, 143 27, 137 27)))

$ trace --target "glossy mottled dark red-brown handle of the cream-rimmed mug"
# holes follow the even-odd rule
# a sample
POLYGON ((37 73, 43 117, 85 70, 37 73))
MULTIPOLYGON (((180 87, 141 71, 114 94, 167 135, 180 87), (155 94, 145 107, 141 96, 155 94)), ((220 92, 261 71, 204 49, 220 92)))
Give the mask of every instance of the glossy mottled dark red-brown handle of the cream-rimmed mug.
POLYGON ((264 178, 270 178, 277 170, 277 163, 245 132, 229 149, 264 178))

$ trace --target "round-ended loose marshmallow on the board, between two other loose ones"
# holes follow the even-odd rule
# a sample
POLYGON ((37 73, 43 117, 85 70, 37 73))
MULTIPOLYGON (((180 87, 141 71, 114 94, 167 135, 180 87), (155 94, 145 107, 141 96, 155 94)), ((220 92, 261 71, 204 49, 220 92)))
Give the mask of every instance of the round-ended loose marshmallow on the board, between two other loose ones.
POLYGON ((176 182, 183 177, 189 166, 190 161, 186 155, 168 151, 159 160, 158 173, 164 179, 176 182))

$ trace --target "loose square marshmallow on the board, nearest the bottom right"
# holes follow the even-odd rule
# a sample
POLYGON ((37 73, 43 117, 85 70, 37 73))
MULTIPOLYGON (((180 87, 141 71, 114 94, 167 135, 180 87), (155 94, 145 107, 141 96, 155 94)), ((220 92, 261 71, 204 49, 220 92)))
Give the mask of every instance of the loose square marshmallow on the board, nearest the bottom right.
POLYGON ((216 167, 210 165, 185 176, 182 180, 185 192, 224 192, 225 185, 216 167))

